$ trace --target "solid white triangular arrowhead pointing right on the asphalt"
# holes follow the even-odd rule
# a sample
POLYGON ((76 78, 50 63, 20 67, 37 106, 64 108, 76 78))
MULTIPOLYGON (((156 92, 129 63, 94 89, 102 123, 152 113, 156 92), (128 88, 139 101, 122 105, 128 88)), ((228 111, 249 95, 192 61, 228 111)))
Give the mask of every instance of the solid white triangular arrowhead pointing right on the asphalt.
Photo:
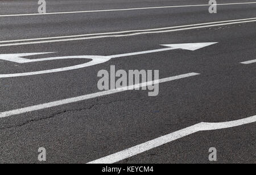
POLYGON ((185 44, 164 44, 163 46, 172 47, 176 49, 185 49, 189 51, 195 51, 197 49, 201 49, 207 47, 209 45, 213 45, 216 43, 185 43, 185 44))

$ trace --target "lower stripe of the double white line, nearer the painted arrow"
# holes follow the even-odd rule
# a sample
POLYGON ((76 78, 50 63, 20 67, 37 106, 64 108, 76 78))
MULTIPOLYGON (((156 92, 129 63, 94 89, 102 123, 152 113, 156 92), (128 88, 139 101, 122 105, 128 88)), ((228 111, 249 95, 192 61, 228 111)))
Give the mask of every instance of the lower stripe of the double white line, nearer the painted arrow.
POLYGON ((255 20, 245 20, 245 21, 242 21, 242 22, 212 24, 212 25, 199 26, 199 27, 178 28, 178 29, 175 29, 175 30, 137 32, 137 33, 125 34, 125 35, 102 35, 102 36, 90 36, 90 37, 83 37, 83 38, 70 38, 70 39, 57 39, 57 40, 45 40, 45 41, 31 41, 31 42, 23 42, 23 43, 0 44, 0 47, 7 47, 7 46, 14 46, 14 45, 55 43, 55 42, 63 42, 63 41, 75 41, 75 40, 113 38, 113 37, 114 37, 114 38, 117 38, 117 37, 135 36, 135 35, 145 35, 145 34, 160 34, 160 33, 166 33, 166 32, 185 31, 185 30, 193 30, 193 29, 197 29, 197 28, 207 28, 207 27, 216 27, 216 26, 227 26, 227 25, 231 25, 231 24, 241 24, 241 23, 251 23, 251 22, 256 22, 256 19, 255 19, 255 20))

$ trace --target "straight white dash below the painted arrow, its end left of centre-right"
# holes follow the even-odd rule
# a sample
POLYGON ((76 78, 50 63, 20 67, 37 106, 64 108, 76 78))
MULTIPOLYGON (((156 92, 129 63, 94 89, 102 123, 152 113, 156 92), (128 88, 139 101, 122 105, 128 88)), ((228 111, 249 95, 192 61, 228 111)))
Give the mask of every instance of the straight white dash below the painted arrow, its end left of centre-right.
POLYGON ((181 74, 179 76, 174 76, 174 77, 168 77, 168 78, 163 78, 160 80, 156 81, 148 81, 148 82, 143 82, 142 84, 135 84, 131 86, 125 86, 121 87, 118 89, 113 89, 113 90, 106 90, 106 91, 101 91, 98 93, 93 93, 93 94, 88 94, 88 95, 82 95, 79 97, 73 97, 73 98, 67 98, 67 99, 62 99, 60 101, 54 101, 54 102, 49 102, 49 103, 44 103, 41 105, 35 105, 35 106, 30 106, 30 107, 24 107, 21 109, 16 109, 16 110, 11 110, 11 111, 5 111, 0 113, 0 118, 5 118, 7 116, 13 116, 13 115, 18 115, 18 114, 24 114, 24 113, 29 113, 32 111, 37 111, 37 110, 42 110, 42 109, 47 109, 50 107, 56 107, 56 106, 61 106, 61 105, 67 105, 69 103, 75 103, 75 102, 80 102, 84 101, 86 99, 92 99, 96 97, 102 97, 105 95, 110 95, 110 94, 115 94, 115 93, 120 93, 122 91, 127 91, 130 89, 137 89, 139 87, 145 87, 145 86, 150 86, 152 84, 160 84, 163 82, 168 82, 168 81, 174 81, 174 80, 180 80, 182 78, 187 78, 187 77, 192 77, 192 76, 198 76, 200 75, 199 73, 187 73, 187 74, 181 74))

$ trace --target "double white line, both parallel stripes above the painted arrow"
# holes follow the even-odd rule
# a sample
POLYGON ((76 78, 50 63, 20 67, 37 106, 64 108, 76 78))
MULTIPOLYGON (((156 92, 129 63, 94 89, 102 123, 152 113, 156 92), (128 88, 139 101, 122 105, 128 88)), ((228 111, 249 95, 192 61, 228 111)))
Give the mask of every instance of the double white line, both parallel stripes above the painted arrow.
POLYGON ((49 38, 6 40, 6 41, 0 41, 0 47, 13 46, 13 45, 55 43, 55 42, 74 41, 74 40, 135 36, 135 35, 143 35, 143 34, 159 34, 159 33, 165 33, 165 32, 193 30, 197 28, 226 26, 231 24, 251 23, 251 22, 256 22, 256 18, 224 20, 220 22, 198 23, 198 24, 189 24, 184 26, 152 28, 152 29, 146 29, 146 30, 131 30, 131 31, 118 31, 118 32, 105 32, 105 33, 98 33, 98 34, 56 36, 56 37, 49 37, 49 38))

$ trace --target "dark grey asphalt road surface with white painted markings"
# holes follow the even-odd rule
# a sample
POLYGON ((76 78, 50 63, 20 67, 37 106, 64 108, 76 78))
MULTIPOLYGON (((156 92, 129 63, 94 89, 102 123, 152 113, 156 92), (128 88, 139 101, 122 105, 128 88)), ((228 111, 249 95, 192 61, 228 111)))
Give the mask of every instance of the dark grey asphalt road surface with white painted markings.
POLYGON ((39 15, 36 1, 1 1, 0 163, 40 163, 43 147, 46 163, 255 164, 256 1, 217 2, 210 14, 199 0, 52 0, 39 15), (184 43, 211 44, 163 46, 184 43), (169 79, 155 97, 101 91, 111 65, 169 79))

